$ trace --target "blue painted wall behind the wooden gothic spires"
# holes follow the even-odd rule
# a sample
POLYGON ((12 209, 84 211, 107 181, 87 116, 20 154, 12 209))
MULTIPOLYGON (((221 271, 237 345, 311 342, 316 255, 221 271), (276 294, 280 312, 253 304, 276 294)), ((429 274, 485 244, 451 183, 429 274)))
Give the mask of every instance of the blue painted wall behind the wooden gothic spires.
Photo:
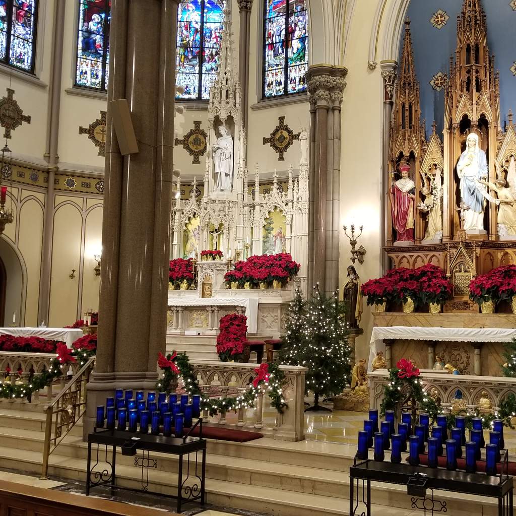
MULTIPOLYGON (((495 70, 500 72, 500 115, 502 126, 509 109, 516 112, 516 77, 510 71, 516 61, 516 11, 509 0, 482 0, 488 24, 489 52, 495 55, 495 70)), ((444 125, 444 89, 437 92, 430 81, 433 75, 442 71, 449 73, 449 57, 455 57, 457 46, 457 15, 462 0, 411 0, 407 11, 410 18, 412 44, 417 79, 421 87, 421 110, 426 118, 427 135, 431 134, 432 120, 436 120, 439 134, 444 125), (442 9, 449 20, 438 29, 430 19, 433 13, 442 9)), ((401 35, 400 56, 403 34, 401 35)))

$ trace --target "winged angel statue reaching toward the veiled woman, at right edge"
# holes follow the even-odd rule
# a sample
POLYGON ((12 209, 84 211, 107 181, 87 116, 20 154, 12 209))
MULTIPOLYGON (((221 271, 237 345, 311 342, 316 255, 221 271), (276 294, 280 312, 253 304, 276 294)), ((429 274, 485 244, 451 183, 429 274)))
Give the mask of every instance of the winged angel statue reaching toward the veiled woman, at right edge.
POLYGON ((507 171, 507 182, 499 170, 496 175, 498 178, 496 183, 482 180, 477 180, 477 182, 488 186, 497 193, 498 199, 489 196, 488 200, 498 206, 498 234, 500 236, 516 235, 516 162, 514 162, 514 156, 511 157, 507 171))

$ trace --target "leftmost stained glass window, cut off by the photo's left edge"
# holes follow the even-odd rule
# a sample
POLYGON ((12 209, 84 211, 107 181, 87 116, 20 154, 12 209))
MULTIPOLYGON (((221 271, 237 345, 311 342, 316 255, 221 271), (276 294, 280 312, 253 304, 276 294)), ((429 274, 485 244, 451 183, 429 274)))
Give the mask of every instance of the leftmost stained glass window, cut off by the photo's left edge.
POLYGON ((0 62, 34 73, 38 0, 0 0, 0 62))

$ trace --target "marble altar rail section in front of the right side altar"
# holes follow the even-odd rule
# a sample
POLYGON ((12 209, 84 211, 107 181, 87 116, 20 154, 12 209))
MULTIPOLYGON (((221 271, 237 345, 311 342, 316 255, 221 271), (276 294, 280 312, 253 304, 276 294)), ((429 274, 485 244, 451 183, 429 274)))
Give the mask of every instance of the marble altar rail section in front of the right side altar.
MULTIPOLYGON (((379 409, 383 399, 383 386, 389 381, 389 372, 387 369, 377 369, 368 373, 367 378, 370 407, 379 409)), ((421 369, 420 380, 423 382, 423 390, 429 396, 439 396, 445 412, 451 409, 457 390, 462 393, 460 403, 466 410, 485 408, 479 404, 480 398, 489 399, 492 410, 497 410, 500 402, 509 393, 516 394, 516 378, 448 375, 431 369, 421 369)))

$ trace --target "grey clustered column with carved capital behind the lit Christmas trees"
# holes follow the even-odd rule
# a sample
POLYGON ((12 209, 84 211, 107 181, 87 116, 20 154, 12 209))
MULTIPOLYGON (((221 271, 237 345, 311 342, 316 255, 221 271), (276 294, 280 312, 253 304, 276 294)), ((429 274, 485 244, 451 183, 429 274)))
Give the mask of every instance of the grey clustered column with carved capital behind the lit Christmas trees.
POLYGON ((311 102, 309 278, 331 294, 338 286, 340 225, 340 110, 344 67, 315 65, 307 72, 311 102), (313 150, 312 150, 313 149, 313 150), (317 264, 317 265, 316 265, 317 264))

